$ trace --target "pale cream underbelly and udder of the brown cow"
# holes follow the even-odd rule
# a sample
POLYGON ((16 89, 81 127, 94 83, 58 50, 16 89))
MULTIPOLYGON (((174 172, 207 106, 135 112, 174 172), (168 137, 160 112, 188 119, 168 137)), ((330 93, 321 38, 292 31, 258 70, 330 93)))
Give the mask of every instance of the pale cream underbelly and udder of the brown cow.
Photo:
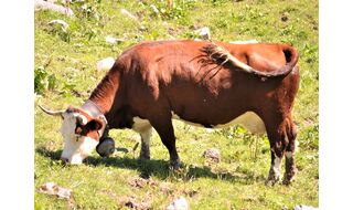
MULTIPOLYGON (((204 127, 201 124, 184 120, 184 119, 180 118, 174 113, 172 113, 172 118, 182 120, 189 125, 204 127)), ((257 135, 266 134, 266 128, 265 128, 265 124, 264 124, 263 119, 254 112, 246 112, 243 115, 236 117, 235 119, 233 119, 226 124, 217 124, 217 125, 211 125, 211 126, 212 126, 212 128, 224 128, 224 127, 229 127, 233 125, 243 125, 253 134, 257 134, 257 135)))

